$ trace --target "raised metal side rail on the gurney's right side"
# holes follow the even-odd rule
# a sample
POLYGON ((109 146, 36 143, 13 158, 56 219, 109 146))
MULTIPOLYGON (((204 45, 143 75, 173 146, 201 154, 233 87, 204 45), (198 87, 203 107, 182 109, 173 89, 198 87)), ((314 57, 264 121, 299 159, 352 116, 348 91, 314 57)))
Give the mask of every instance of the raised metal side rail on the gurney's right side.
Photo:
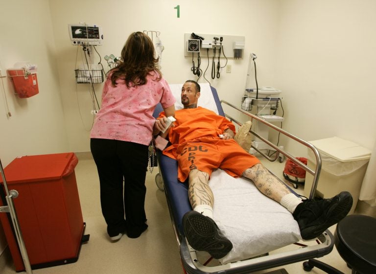
MULTIPOLYGON (((309 193, 309 199, 313 199, 314 198, 314 195, 315 195, 315 192, 316 192, 316 188, 317 188, 317 183, 318 183, 318 180, 319 180, 319 176, 320 176, 320 171, 321 171, 321 157, 320 157, 320 154, 319 154, 319 151, 317 150, 317 148, 315 148, 312 144, 310 144, 309 142, 306 142, 305 140, 299 138, 299 137, 296 137, 286 131, 284 131, 283 129, 267 122, 266 120, 260 118, 259 116, 257 115, 254 115, 254 114, 251 114, 247 111, 244 111, 242 109, 239 109, 238 107, 236 107, 235 105, 227 102, 227 101, 224 101, 224 100, 221 100, 221 104, 226 104, 230 107, 232 107, 233 109, 251 117, 251 121, 253 119, 256 119, 258 122, 261 122, 269 127, 271 127, 272 129, 282 133, 283 135, 301 143, 302 145, 308 147, 310 150, 312 150, 313 154, 315 155, 315 158, 316 158, 316 168, 315 170, 313 171, 312 169, 310 169, 307 165, 305 165, 303 162, 301 162, 300 160, 296 159, 292 154, 288 153, 287 151, 283 150, 282 148, 276 146, 275 144, 273 144, 272 142, 270 142, 269 140, 265 139, 264 137, 262 136, 259 136, 256 132, 250 130, 249 132, 251 134, 253 134, 254 136, 258 137, 260 140, 262 140, 263 142, 265 142, 266 144, 268 144, 269 146, 271 146, 273 149, 275 149, 277 151, 276 153, 276 157, 274 159, 270 158, 269 156, 267 156, 265 153, 263 153, 262 151, 260 151, 258 148, 254 147, 252 145, 252 148, 254 148, 259 154, 261 154, 263 157, 265 157, 266 159, 268 159, 269 161, 275 161, 276 159, 278 159, 279 157, 279 153, 282 153, 285 157, 287 157, 288 159, 292 160, 294 163, 296 163, 298 166, 302 167, 306 172, 309 172, 312 176, 313 176, 313 183, 312 183, 312 187, 311 187, 311 191, 309 193)), ((236 124, 238 124, 239 126, 241 125, 241 123, 239 121, 237 121, 235 118, 231 117, 230 115, 226 114, 226 117, 228 117, 231 121, 235 122, 236 124)))

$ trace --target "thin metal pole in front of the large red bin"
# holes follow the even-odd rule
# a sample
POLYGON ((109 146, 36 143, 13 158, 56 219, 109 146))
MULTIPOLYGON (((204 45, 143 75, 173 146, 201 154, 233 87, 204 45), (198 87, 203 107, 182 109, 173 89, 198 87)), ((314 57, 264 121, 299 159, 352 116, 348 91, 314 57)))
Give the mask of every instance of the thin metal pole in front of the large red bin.
POLYGON ((6 192, 5 199, 6 199, 6 202, 8 204, 8 206, 0 206, 0 213, 1 212, 9 212, 10 217, 12 219, 13 228, 14 228, 14 231, 16 233, 17 242, 18 242, 18 245, 20 247, 22 260, 24 261, 24 267, 25 267, 26 274, 32 274, 33 272, 31 270, 29 257, 27 256, 24 238, 22 237, 22 233, 21 233, 20 223, 18 222, 16 209, 15 209, 14 203, 13 203, 13 198, 18 197, 18 192, 17 192, 17 190, 8 190, 8 186, 6 184, 5 175, 4 175, 4 169, 2 168, 2 164, 1 164, 1 159, 0 159, 0 172, 1 172, 1 176, 2 176, 2 182, 4 182, 4 188, 5 188, 5 192, 6 192))

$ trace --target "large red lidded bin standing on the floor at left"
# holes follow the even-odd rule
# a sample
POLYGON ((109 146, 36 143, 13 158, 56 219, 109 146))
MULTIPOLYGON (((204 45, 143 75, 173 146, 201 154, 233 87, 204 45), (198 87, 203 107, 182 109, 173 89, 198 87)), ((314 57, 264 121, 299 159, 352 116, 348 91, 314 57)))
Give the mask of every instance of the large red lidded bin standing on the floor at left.
MULTIPOLYGON (((74 153, 24 156, 4 168, 9 190, 19 196, 14 206, 32 269, 78 260, 84 235, 74 168, 74 153)), ((0 206, 6 205, 2 179, 0 206)), ((16 271, 24 271, 9 213, 0 213, 16 271), (7 216, 8 215, 8 216, 7 216)))

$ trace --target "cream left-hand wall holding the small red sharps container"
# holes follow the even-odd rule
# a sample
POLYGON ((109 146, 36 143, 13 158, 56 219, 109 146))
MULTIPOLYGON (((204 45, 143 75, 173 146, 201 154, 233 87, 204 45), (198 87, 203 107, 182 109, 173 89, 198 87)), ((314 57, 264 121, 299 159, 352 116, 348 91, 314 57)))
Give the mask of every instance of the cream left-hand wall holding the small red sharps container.
MULTIPOLYGON (((0 1, 1 75, 16 62, 38 65, 39 94, 18 98, 0 79, 0 159, 3 167, 22 155, 69 150, 48 0, 0 1), (4 90, 2 87, 4 84, 4 90), (11 117, 7 116, 6 102, 11 117)), ((0 213, 4 214, 4 213, 0 213)), ((0 254, 6 241, 0 227, 0 254)))

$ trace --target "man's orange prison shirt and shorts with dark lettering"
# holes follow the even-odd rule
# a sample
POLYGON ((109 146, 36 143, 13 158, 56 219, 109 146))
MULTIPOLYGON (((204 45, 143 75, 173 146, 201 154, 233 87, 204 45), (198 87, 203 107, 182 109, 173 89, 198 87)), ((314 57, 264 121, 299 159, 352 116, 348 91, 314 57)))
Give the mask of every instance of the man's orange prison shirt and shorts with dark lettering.
MULTIPOLYGON (((160 117, 163 116, 161 113, 160 117)), ((185 182, 194 169, 210 176, 213 169, 221 168, 233 177, 240 177, 244 170, 260 162, 234 139, 218 137, 226 129, 235 133, 235 126, 225 117, 197 107, 176 111, 175 119, 175 127, 168 134, 171 145, 163 154, 178 161, 180 182, 185 182)))

